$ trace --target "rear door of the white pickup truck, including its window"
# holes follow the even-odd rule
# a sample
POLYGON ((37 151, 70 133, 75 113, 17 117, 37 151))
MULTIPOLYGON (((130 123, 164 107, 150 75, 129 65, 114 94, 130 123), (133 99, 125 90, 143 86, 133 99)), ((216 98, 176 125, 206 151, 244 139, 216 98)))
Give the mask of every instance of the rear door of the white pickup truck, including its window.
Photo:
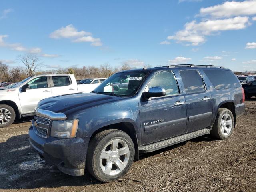
POLYGON ((51 76, 52 96, 77 93, 77 84, 71 81, 70 76, 51 76))

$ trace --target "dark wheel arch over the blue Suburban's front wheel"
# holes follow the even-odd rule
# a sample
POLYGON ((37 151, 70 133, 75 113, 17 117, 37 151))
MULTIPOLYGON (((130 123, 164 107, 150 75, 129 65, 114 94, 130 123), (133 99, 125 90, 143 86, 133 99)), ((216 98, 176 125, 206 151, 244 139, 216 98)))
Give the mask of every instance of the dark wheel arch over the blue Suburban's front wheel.
MULTIPOLYGON (((125 132, 130 136, 134 143, 134 150, 135 150, 135 156, 134 159, 139 159, 138 154, 138 129, 135 122, 131 122, 129 120, 120 120, 120 121, 114 121, 114 122, 108 122, 108 124, 104 124, 101 126, 97 126, 96 129, 94 129, 94 132, 91 133, 90 140, 99 132, 102 132, 104 130, 108 129, 116 129, 125 132)), ((89 141, 90 143, 90 141, 89 141)))

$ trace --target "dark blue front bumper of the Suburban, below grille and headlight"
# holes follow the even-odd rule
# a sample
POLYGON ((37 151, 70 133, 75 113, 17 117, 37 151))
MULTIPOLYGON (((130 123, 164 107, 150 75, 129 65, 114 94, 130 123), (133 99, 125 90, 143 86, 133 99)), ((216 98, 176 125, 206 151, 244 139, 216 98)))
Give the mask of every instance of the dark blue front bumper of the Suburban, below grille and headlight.
POLYGON ((31 126, 29 142, 32 148, 46 162, 53 164, 68 175, 84 175, 89 138, 42 138, 31 126))

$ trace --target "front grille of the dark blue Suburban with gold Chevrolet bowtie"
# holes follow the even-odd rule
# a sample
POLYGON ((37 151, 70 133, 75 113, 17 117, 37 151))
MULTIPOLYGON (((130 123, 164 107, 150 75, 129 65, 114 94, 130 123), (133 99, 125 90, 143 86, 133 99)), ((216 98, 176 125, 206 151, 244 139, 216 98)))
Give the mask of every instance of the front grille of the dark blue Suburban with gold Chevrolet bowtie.
POLYGON ((49 125, 50 125, 50 119, 35 116, 34 127, 35 127, 36 134, 38 134, 39 136, 44 138, 47 137, 49 125))

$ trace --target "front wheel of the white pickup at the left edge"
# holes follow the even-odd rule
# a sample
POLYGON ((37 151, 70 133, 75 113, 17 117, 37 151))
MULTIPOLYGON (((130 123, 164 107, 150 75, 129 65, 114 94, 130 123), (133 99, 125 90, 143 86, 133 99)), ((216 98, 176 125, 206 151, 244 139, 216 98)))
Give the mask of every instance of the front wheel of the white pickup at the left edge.
POLYGON ((15 120, 15 111, 12 107, 0 104, 0 128, 8 127, 15 120))

